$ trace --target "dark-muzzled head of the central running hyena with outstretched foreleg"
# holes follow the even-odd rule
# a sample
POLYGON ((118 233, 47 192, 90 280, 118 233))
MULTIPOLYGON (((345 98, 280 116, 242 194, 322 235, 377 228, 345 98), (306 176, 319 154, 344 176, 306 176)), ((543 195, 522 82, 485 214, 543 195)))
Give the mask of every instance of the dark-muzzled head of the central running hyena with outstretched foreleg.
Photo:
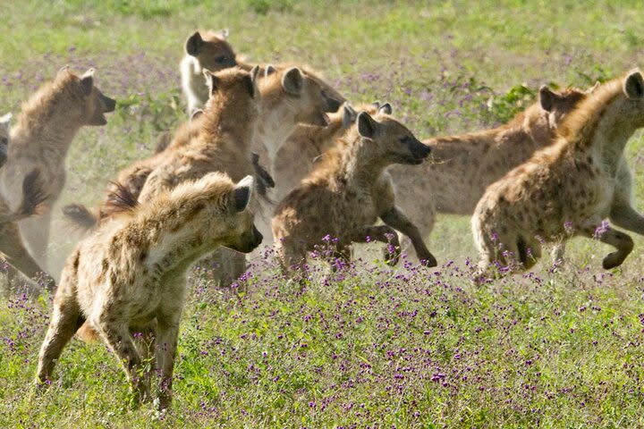
POLYGON ((389 114, 391 105, 388 103, 380 106, 375 118, 360 112, 356 119, 358 134, 386 164, 421 164, 429 156, 429 147, 389 114))

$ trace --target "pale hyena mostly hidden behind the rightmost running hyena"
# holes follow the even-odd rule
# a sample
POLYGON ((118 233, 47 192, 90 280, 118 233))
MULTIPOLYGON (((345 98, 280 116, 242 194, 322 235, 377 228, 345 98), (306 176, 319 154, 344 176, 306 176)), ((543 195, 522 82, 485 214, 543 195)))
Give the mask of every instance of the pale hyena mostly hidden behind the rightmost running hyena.
POLYGON ((426 239, 434 228, 436 212, 471 214, 489 184, 550 144, 565 114, 587 94, 575 88, 554 92, 543 86, 538 102, 511 122, 492 130, 426 140, 432 163, 416 169, 400 165, 389 169, 398 205, 426 239))

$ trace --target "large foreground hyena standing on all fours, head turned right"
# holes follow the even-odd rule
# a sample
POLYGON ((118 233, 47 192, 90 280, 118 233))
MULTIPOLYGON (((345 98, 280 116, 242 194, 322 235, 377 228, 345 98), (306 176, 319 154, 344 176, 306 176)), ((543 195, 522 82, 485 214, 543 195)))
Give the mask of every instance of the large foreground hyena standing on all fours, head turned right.
POLYGON ((220 246, 248 253, 259 245, 262 236, 249 208, 252 186, 251 176, 234 184, 219 172, 184 181, 81 241, 56 290, 36 383, 47 382, 64 346, 87 322, 123 363, 135 400, 148 400, 151 374, 143 374, 144 357, 132 338, 132 332, 148 332, 159 374, 158 405, 168 408, 186 272, 220 246))

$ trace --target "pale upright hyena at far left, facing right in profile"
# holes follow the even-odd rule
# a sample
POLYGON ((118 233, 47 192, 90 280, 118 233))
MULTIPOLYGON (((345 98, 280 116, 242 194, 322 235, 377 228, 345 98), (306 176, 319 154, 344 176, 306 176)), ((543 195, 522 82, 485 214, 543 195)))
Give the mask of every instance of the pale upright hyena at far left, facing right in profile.
POLYGON ((47 267, 51 208, 65 183, 65 156, 72 139, 85 125, 105 125, 115 102, 94 85, 94 69, 77 76, 67 68, 39 88, 22 105, 11 132, 9 160, 0 171, 0 193, 15 209, 21 202, 21 183, 38 170, 45 183, 45 214, 19 223, 22 238, 38 265, 47 267))

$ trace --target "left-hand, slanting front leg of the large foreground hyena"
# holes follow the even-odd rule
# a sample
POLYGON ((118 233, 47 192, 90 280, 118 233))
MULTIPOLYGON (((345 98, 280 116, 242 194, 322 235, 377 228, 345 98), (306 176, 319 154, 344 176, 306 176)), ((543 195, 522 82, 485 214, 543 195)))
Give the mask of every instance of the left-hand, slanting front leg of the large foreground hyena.
POLYGON ((131 391, 134 393, 134 400, 137 403, 140 400, 147 400, 149 394, 148 377, 142 374, 140 354, 131 338, 128 325, 123 322, 111 321, 110 317, 111 315, 104 313, 98 317, 98 321, 94 325, 123 364, 131 391))

